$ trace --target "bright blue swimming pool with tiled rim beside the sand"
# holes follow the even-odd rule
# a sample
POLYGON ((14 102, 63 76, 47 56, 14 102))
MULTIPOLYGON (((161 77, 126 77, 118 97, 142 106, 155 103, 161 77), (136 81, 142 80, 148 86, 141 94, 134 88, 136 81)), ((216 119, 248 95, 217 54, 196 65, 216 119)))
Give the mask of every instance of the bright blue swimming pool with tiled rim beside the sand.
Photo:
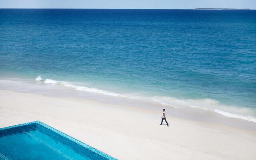
POLYGON ((0 128, 0 160, 116 160, 40 121, 0 128))

